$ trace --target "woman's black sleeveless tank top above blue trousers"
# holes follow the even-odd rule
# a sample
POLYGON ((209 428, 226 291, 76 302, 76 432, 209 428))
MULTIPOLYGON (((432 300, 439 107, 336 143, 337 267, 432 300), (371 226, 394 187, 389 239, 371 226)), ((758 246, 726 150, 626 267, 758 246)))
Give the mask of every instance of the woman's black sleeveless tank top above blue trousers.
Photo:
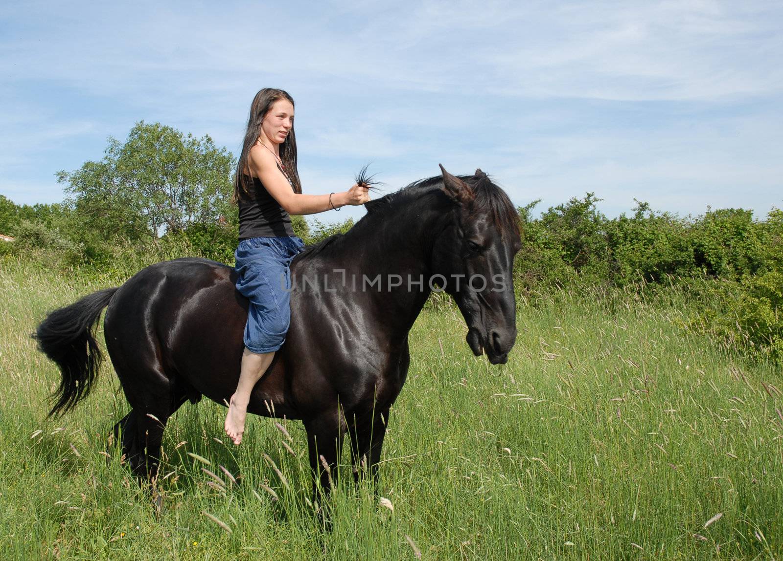
POLYGON ((249 238, 294 236, 291 217, 275 200, 258 177, 245 176, 253 183, 250 197, 240 198, 240 241, 249 238))

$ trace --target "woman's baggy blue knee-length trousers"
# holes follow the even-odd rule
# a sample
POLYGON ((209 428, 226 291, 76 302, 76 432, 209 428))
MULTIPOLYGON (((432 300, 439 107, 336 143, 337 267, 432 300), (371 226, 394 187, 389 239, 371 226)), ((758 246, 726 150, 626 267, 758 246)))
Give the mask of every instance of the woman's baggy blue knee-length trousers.
POLYGON ((250 300, 244 344, 251 352, 283 346, 290 324, 290 264, 305 248, 301 238, 250 238, 234 252, 236 290, 250 300))

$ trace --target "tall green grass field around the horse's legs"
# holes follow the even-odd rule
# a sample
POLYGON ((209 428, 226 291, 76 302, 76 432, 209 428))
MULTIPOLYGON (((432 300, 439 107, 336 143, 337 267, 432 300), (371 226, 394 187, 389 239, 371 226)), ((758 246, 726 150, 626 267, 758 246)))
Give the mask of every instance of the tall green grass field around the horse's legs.
POLYGON ((156 513, 106 455, 128 408, 108 362, 74 412, 45 419, 59 374, 29 334, 48 310, 117 282, 0 270, 2 559, 783 555, 781 373, 686 334, 676 292, 518 302, 517 345, 500 367, 472 356, 456 309, 428 307, 389 420, 388 503, 345 466, 324 532, 298 422, 280 422, 289 443, 254 418, 236 449, 225 409, 186 404, 164 439, 156 513))

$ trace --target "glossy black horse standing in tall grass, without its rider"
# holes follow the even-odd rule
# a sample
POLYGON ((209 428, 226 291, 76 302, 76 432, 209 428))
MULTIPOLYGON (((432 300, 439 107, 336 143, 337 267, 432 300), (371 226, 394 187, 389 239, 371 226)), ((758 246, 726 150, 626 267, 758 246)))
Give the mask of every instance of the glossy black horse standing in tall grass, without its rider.
MULTIPOLYGON (((287 341, 248 412, 302 420, 327 491, 346 433, 355 477, 363 465, 377 477, 389 407, 408 373, 408 333, 432 290, 455 298, 476 356, 505 363, 514 345, 518 215, 481 170, 441 170, 368 202, 347 234, 291 264, 287 341)), ((225 403, 236 388, 247 300, 235 280, 229 266, 175 259, 50 313, 34 335, 62 373, 50 415, 88 395, 101 360, 94 324, 108 306, 106 348, 132 406, 114 431, 134 472, 155 477, 164 427, 179 406, 201 395, 225 403)))

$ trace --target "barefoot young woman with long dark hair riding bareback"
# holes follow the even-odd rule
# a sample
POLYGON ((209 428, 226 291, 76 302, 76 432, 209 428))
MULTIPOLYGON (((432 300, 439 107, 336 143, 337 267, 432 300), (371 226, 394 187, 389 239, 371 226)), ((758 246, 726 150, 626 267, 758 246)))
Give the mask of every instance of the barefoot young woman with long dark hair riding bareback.
POLYGON ((264 88, 253 98, 247 132, 234 177, 239 204, 240 244, 236 288, 250 299, 242 370, 226 416, 226 434, 242 441, 251 391, 283 345, 290 321, 290 263, 304 244, 294 236, 291 214, 323 213, 370 199, 364 186, 329 195, 303 195, 296 168, 294 100, 283 90, 264 88))

